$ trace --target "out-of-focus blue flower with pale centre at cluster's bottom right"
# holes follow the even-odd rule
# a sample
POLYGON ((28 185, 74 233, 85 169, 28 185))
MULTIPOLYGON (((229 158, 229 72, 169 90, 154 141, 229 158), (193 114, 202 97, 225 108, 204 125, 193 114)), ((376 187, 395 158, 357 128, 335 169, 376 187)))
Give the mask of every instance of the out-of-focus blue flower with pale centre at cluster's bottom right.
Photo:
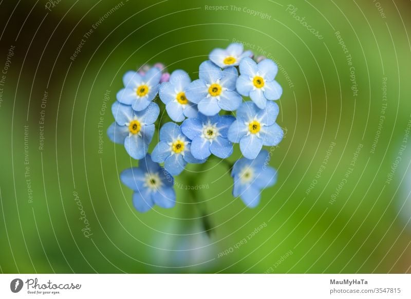
POLYGON ((268 152, 261 151, 254 160, 242 158, 233 166, 233 196, 239 196, 249 208, 258 205, 261 190, 277 181, 277 171, 268 166, 269 160, 268 152))

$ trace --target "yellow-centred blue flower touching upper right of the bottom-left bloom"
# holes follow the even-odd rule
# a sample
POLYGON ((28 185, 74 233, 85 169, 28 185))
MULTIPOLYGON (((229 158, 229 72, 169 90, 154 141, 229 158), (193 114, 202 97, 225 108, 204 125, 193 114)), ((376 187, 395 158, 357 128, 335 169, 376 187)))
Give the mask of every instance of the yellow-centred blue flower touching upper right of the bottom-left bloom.
POLYGON ((160 142, 153 149, 154 162, 164 162, 164 169, 170 174, 179 175, 187 163, 203 163, 197 160, 190 151, 191 140, 181 132, 179 125, 167 122, 160 129, 160 142))

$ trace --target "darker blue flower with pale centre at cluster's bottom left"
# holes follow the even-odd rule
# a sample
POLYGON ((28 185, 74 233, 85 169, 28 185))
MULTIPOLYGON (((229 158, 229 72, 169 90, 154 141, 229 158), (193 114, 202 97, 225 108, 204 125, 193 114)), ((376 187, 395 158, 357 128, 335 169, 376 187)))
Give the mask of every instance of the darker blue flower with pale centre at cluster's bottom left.
POLYGON ((138 167, 123 171, 120 179, 134 191, 133 204, 139 212, 147 212, 154 204, 165 209, 173 208, 176 204, 174 178, 153 162, 148 154, 140 160, 138 167))

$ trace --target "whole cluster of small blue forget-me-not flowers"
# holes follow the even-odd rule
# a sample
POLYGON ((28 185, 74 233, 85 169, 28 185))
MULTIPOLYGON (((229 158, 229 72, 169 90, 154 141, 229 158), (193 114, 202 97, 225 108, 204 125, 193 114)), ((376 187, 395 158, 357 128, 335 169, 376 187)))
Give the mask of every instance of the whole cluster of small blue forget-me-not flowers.
POLYGON ((270 59, 257 63, 251 51, 235 43, 214 49, 209 59, 200 64, 194 81, 183 70, 165 72, 161 64, 123 76, 124 88, 111 107, 115 122, 107 135, 140 160, 138 167, 120 175, 134 191, 133 204, 140 212, 155 204, 174 207, 173 176, 188 163, 205 163, 211 155, 229 158, 235 143, 244 156, 231 167, 235 197, 253 208, 261 190, 276 181, 276 171, 268 166, 270 156, 262 148, 283 139, 275 122, 279 107, 274 100, 283 92, 274 80, 277 65, 270 59), (165 105, 172 122, 159 127, 159 142, 150 155, 148 148, 160 126, 159 104, 165 105))

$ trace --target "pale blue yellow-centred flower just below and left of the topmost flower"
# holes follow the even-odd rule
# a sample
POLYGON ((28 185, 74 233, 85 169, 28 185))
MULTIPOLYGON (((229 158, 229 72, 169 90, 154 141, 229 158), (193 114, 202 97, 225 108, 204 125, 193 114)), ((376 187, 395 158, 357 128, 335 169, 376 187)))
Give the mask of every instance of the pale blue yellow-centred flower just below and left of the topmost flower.
POLYGON ((204 61, 200 65, 199 78, 190 83, 185 96, 198 104, 203 115, 212 116, 221 109, 233 111, 238 108, 242 98, 235 91, 238 72, 234 66, 221 70, 211 61, 204 61))

